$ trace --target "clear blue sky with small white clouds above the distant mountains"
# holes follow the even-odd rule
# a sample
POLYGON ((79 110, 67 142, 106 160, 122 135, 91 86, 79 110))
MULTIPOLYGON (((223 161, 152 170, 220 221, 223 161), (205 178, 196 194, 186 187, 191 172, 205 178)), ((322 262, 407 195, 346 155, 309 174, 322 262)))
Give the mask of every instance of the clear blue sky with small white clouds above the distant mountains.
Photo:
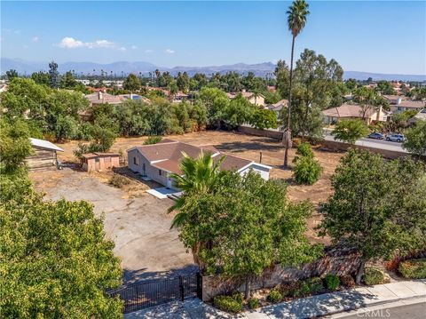
MULTIPOLYGON (((296 40, 345 70, 426 74, 426 2, 308 1, 296 40)), ((209 66, 289 60, 290 2, 1 2, 1 54, 209 66)))

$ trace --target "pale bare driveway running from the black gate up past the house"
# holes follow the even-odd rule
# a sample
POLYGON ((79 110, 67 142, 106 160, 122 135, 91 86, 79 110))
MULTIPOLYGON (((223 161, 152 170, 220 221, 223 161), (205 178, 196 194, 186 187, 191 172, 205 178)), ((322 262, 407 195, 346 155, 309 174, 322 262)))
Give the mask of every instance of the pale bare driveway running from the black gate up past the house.
POLYGON ((106 185, 83 171, 43 171, 31 175, 37 189, 57 200, 85 200, 97 215, 105 215, 106 235, 114 240, 114 253, 122 259, 126 283, 193 272, 192 255, 186 253, 170 230, 170 199, 143 194, 128 198, 121 189, 106 185))

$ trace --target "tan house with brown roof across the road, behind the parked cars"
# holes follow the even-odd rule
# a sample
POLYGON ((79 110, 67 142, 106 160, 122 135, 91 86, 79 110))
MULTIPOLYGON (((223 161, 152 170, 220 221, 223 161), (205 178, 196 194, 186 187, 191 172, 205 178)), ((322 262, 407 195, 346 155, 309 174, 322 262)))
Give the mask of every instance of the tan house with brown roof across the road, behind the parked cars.
POLYGON ((387 122, 390 113, 379 108, 367 108, 364 114, 364 109, 357 104, 342 104, 338 108, 328 108, 322 111, 324 122, 326 124, 335 124, 341 119, 360 119, 364 120, 367 124, 372 122, 387 122))

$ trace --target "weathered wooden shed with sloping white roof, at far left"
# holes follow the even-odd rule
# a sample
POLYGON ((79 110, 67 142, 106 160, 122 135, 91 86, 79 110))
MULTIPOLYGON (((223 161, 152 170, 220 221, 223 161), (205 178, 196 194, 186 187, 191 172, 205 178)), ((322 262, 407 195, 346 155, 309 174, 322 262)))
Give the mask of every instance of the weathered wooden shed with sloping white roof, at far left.
POLYGON ((34 153, 28 156, 26 162, 30 171, 46 171, 56 169, 58 166, 57 152, 63 152, 49 140, 29 139, 34 153))

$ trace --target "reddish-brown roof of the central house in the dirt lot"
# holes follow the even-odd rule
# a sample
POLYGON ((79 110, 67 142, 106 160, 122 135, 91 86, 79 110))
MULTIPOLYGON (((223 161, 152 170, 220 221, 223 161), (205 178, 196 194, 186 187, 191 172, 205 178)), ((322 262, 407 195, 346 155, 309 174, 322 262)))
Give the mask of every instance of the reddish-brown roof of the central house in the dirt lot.
MULTIPOLYGON (((130 148, 128 152, 132 149, 135 148, 130 148)), ((140 154, 144 156, 154 167, 177 174, 182 174, 182 171, 180 170, 180 161, 184 157, 184 154, 196 158, 200 156, 201 153, 209 152, 212 154, 215 163, 225 156, 211 145, 197 147, 169 139, 162 140, 157 144, 139 146, 136 147, 136 149, 138 149, 140 154)), ((226 155, 224 163, 221 165, 221 169, 240 171, 252 163, 255 162, 237 156, 226 155)), ((263 164, 256 163, 256 165, 271 169, 269 166, 263 164)))

